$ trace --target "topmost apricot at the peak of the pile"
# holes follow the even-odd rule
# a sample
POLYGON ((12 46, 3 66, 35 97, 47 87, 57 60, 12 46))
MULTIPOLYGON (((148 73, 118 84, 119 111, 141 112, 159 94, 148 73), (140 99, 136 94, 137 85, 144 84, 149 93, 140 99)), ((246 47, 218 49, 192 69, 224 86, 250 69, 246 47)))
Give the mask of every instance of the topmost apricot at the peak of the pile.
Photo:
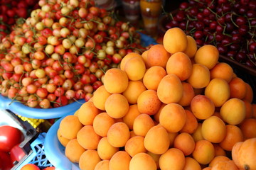
POLYGON ((181 28, 170 28, 164 34, 163 45, 171 54, 183 52, 187 48, 188 39, 181 28))

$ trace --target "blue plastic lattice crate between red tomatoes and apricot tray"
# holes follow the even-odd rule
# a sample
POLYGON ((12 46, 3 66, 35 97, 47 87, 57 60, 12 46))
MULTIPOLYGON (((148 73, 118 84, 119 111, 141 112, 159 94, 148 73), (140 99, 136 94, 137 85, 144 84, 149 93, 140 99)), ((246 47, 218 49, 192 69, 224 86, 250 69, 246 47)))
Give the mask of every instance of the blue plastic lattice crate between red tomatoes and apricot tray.
POLYGON ((28 157, 24 157, 21 159, 20 163, 14 166, 12 169, 19 170, 22 166, 26 164, 35 164, 39 168, 43 169, 48 166, 53 166, 48 161, 44 150, 44 142, 45 142, 46 132, 43 132, 38 135, 36 140, 31 143, 31 152, 28 154, 28 157))

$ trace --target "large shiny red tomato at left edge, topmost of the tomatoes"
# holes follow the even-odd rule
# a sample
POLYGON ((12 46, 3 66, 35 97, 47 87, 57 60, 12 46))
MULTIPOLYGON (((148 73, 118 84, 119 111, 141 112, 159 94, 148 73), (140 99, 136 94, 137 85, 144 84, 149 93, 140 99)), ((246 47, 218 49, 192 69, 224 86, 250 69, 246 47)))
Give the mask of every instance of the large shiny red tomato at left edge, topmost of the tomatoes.
POLYGON ((21 143, 24 140, 24 135, 21 130, 9 125, 0 126, 0 150, 10 152, 11 148, 21 143))

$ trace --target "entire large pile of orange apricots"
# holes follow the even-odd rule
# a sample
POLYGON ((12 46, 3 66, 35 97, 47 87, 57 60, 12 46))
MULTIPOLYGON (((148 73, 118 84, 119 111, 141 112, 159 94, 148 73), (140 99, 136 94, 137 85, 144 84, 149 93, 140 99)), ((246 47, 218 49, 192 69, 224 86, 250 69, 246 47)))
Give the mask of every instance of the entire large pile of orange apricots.
POLYGON ((252 88, 180 28, 131 52, 58 127, 80 169, 256 169, 252 88), (72 127, 72 128, 70 128, 72 127))

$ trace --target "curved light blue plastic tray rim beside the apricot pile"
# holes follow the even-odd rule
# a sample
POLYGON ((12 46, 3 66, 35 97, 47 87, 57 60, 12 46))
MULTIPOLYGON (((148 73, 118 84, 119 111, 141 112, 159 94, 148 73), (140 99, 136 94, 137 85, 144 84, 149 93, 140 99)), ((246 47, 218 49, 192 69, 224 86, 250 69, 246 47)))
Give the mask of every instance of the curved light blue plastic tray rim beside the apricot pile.
POLYGON ((70 162, 70 160, 65 157, 65 147, 63 147, 63 145, 61 145, 58 141, 57 131, 60 125, 60 121, 63 118, 60 118, 48 130, 44 142, 45 154, 50 163, 53 164, 53 166, 55 166, 55 168, 58 170, 79 170, 78 164, 70 162))

